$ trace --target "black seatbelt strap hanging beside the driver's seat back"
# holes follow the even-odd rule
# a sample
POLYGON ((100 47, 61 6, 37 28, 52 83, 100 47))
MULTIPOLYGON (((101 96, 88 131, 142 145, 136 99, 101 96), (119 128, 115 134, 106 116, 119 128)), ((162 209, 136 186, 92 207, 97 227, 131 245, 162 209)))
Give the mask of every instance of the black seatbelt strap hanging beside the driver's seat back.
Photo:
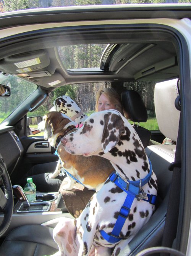
MULTIPOLYGON (((180 102, 180 96, 177 97, 180 102)), ((177 100, 175 100, 177 102, 177 100)), ((176 104, 175 104, 176 105, 176 104)), ((178 109, 178 107, 176 107, 178 109)), ((179 109, 180 110, 180 107, 179 109)), ((173 241, 176 238, 179 205, 180 205, 180 181, 181 181, 181 112, 178 126, 178 136, 176 142, 175 162, 170 164, 170 171, 173 171, 170 195, 168 200, 168 208, 163 231, 162 246, 172 247, 173 241)), ((169 255, 162 253, 162 256, 169 255)))

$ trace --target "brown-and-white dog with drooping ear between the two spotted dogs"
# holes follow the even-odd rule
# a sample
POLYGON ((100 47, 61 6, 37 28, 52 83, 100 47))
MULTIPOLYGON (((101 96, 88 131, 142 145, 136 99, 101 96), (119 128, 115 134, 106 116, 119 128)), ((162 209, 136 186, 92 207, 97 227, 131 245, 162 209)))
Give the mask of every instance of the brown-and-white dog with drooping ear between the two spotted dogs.
MULTIPOLYGON (((62 161, 62 167, 73 175, 88 189, 99 190, 114 168, 110 161, 99 156, 84 157, 83 155, 72 155, 66 152, 60 139, 75 130, 75 123, 61 112, 49 112, 43 117, 44 139, 48 139, 52 147, 58 148, 58 155, 62 161)), ((73 189, 74 179, 65 178, 64 190, 73 189)))

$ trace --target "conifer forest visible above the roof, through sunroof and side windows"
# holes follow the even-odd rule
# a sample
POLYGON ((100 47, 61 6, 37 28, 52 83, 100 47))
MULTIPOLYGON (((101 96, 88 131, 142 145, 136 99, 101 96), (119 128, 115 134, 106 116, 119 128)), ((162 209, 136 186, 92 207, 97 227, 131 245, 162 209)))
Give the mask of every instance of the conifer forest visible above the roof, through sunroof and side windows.
MULTIPOLYGON (((191 3, 191 0, 0 0, 0 13, 45 7, 67 7, 78 5, 115 5, 134 3, 191 3)), ((66 69, 99 67, 100 58, 107 45, 72 45, 59 48, 60 58, 66 69)), ((53 101, 61 95, 68 95, 83 109, 91 113, 95 109, 95 95, 107 83, 86 83, 66 85, 51 92, 49 99, 40 106, 34 115, 43 116, 53 106, 53 101)), ((150 118, 155 117, 154 83, 132 81, 123 84, 127 89, 139 92, 146 105, 150 118)))

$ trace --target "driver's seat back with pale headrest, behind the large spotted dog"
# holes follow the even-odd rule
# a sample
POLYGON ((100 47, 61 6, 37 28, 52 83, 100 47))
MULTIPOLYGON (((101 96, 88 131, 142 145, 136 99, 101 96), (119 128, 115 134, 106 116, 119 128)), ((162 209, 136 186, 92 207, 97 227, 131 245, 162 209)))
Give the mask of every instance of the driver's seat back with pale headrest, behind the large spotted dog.
MULTIPOLYGON (((175 141, 177 139, 180 116, 174 104, 178 94, 177 80, 173 79, 155 85, 155 112, 157 122, 162 133, 169 139, 175 141), (164 94, 165 97, 163 97, 164 94)), ((152 163, 152 169, 157 175, 157 208, 151 219, 142 227, 129 244, 127 244, 123 251, 120 252, 119 256, 133 256, 143 249, 161 246, 172 180, 172 172, 168 170, 168 167, 170 163, 174 162, 175 150, 176 145, 163 144, 151 145, 146 148, 146 153, 152 163)))

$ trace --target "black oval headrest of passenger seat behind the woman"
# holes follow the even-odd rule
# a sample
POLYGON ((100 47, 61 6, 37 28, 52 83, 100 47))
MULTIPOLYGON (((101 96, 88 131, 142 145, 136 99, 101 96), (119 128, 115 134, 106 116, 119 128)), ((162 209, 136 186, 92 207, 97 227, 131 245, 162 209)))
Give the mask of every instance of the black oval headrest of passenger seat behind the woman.
POLYGON ((128 119, 133 122, 146 122, 148 115, 144 102, 138 92, 127 90, 121 93, 121 101, 128 119))

